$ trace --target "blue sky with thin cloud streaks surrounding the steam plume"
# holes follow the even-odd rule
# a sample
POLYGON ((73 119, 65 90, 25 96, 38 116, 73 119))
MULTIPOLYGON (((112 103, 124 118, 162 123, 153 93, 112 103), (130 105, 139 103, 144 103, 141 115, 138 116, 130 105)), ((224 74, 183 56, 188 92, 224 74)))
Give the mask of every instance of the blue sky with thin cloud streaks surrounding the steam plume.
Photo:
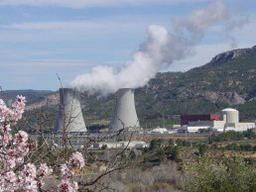
MULTIPOLYGON (((224 0, 234 28, 203 32, 193 53, 161 71, 186 71, 215 54, 256 45, 255 0, 224 0), (242 18, 242 19, 241 19, 242 18), (234 43, 235 40, 235 45, 234 43)), ((122 66, 148 38, 150 25, 172 21, 210 0, 0 0, 0 86, 57 90, 95 65, 122 66)), ((170 50, 172 51, 172 49, 170 50)))

